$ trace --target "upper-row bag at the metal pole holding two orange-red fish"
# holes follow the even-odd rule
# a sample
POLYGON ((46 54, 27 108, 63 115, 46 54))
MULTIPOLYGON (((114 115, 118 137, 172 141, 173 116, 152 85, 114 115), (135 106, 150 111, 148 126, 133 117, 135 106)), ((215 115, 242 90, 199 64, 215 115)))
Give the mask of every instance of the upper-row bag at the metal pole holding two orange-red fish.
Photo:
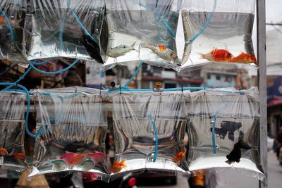
POLYGON ((258 65, 252 45, 255 0, 184 1, 181 16, 185 36, 181 70, 211 63, 258 65))

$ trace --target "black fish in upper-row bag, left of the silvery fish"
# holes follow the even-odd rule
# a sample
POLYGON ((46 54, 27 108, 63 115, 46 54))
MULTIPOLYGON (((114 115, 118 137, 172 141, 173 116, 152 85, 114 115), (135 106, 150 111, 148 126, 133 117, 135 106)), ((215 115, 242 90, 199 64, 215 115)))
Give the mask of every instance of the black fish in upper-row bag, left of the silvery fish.
POLYGON ((100 46, 99 44, 97 44, 97 42, 94 42, 90 36, 83 35, 82 44, 85 46, 88 54, 90 54, 92 58, 94 58, 98 63, 104 64, 104 61, 102 59, 101 52, 100 52, 100 46))

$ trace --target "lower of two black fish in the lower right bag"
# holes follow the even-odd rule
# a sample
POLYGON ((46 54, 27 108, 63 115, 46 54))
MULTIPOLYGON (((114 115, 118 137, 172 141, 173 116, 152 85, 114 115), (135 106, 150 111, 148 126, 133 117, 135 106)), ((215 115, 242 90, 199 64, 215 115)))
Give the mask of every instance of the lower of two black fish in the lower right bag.
POLYGON ((226 156, 228 161, 225 162, 229 165, 235 162, 239 163, 242 156, 241 149, 252 149, 252 147, 243 143, 243 140, 240 139, 236 144, 234 144, 233 150, 226 156))

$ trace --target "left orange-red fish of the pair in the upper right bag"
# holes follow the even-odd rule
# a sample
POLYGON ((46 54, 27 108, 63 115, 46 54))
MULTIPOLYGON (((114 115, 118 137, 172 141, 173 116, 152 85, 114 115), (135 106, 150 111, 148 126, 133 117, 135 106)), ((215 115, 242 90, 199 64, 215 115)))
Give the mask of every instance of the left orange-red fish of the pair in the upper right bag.
POLYGON ((229 61, 233 55, 225 49, 214 49, 208 54, 201 54, 202 58, 214 62, 229 61))

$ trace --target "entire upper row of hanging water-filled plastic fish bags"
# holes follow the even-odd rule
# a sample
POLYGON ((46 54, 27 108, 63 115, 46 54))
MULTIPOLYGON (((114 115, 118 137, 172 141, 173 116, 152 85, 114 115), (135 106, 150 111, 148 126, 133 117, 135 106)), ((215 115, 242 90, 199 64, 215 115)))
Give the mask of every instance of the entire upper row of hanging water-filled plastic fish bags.
POLYGON ((0 57, 19 63, 257 64, 255 0, 4 0, 0 8, 0 57))

